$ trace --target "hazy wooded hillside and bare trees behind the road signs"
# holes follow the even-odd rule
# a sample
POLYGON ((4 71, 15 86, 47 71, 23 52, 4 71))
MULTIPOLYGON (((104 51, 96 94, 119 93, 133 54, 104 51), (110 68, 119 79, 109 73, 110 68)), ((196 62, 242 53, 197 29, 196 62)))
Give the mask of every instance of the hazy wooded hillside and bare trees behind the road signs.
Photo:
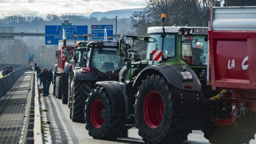
MULTIPOLYGON (((122 35, 147 35, 147 28, 161 26, 161 14, 166 14, 165 25, 208 26, 210 8, 220 6, 215 0, 145 0, 146 7, 135 11, 131 18, 118 18, 117 33, 122 35)), ((256 6, 256 0, 225 0, 224 6, 256 6)), ((119 17, 119 16, 118 16, 119 17)), ((113 18, 84 17, 76 15, 49 14, 45 19, 33 16, 13 15, 0 19, 0 27, 15 27, 15 32, 44 32, 45 25, 60 25, 69 20, 72 25, 113 25, 113 18)), ((137 42, 135 50, 145 58, 146 43, 137 42)), ((28 54, 35 54, 38 65, 54 65, 58 45, 45 45, 44 37, 15 37, 14 45, 0 45, 0 63, 27 64, 28 54)))

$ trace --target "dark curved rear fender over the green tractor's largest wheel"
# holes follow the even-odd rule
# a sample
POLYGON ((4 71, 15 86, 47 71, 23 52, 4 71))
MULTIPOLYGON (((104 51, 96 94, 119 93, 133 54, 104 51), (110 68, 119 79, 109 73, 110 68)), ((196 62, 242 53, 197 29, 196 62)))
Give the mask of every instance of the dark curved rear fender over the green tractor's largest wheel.
POLYGON ((170 84, 179 88, 181 90, 189 90, 189 91, 200 91, 201 83, 198 79, 198 76, 195 72, 188 66, 186 69, 182 69, 182 65, 151 65, 144 68, 135 79, 133 84, 133 88, 137 88, 140 86, 141 81, 146 79, 147 76, 152 75, 153 73, 160 73, 166 79, 166 81, 170 84), (192 80, 183 80, 183 76, 180 72, 188 71, 192 75, 192 80))

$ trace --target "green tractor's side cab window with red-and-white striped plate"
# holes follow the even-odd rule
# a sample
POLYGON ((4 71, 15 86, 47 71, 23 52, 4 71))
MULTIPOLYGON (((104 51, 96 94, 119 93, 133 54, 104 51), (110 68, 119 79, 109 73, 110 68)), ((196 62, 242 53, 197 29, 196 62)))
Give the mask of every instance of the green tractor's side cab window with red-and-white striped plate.
POLYGON ((161 59, 170 59, 175 57, 175 34, 151 34, 148 41, 146 60, 149 65, 157 65, 161 59), (153 52, 154 51, 154 52, 153 52), (155 56, 155 55, 159 56, 155 56), (164 58, 162 58, 163 56, 164 58), (161 58, 160 58, 161 57, 161 58))

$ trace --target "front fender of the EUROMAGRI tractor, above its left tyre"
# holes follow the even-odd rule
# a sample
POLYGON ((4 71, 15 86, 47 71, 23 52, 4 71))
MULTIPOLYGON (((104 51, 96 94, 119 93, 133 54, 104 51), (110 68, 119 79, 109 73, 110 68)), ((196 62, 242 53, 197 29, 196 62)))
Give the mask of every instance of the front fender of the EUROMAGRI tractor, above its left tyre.
POLYGON ((76 69, 74 70, 74 79, 96 81, 98 79, 98 74, 92 71, 82 71, 81 69, 76 69))

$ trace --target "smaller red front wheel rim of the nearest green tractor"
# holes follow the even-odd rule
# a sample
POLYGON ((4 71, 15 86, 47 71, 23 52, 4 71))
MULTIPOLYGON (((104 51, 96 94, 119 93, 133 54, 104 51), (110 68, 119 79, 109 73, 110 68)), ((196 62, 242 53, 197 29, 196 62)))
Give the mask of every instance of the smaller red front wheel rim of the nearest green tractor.
POLYGON ((96 99, 90 110, 90 118, 94 127, 99 128, 103 125, 105 117, 102 118, 101 111, 104 109, 103 102, 96 99))

